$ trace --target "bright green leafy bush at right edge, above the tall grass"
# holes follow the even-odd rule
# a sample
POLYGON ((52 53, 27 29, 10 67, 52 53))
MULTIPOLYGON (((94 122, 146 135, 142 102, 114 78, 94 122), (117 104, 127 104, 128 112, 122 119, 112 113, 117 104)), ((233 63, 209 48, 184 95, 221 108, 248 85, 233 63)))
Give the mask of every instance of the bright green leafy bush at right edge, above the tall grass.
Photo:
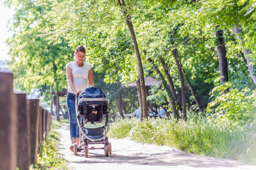
MULTIPOLYGON (((218 81, 218 78, 216 79, 218 81)), ((256 90, 248 87, 239 91, 237 88, 230 88, 230 82, 225 82, 212 89, 209 107, 216 107, 216 114, 219 121, 226 121, 232 124, 244 125, 255 123, 256 120, 256 90), (228 88, 229 91, 224 93, 228 88)))

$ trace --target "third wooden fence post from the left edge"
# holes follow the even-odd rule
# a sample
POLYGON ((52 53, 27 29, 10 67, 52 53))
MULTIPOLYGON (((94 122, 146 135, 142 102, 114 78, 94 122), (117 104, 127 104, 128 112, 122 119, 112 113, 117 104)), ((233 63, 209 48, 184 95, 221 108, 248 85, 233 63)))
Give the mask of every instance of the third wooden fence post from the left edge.
POLYGON ((39 124, 39 99, 28 99, 27 109, 30 117, 31 164, 37 163, 38 154, 38 124, 39 124))

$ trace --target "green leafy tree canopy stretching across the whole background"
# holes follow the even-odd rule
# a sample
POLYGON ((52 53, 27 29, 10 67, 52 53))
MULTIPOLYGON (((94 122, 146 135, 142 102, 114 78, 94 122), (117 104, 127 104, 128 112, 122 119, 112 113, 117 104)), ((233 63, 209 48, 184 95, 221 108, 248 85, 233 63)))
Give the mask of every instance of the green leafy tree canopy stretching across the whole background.
MULTIPOLYGON (((93 65, 95 75, 101 77, 95 80, 103 90, 115 94, 111 97, 117 108, 118 93, 114 91, 120 90, 121 84, 138 79, 137 54, 125 24, 129 20, 144 76, 164 77, 161 85, 150 89, 148 100, 152 105, 165 105, 171 111, 173 103, 172 110, 180 110, 183 115, 184 107, 209 110, 208 103, 218 98, 210 98, 209 93, 222 84, 219 78, 215 81, 222 76, 216 31, 223 34, 227 88, 255 89, 255 0, 125 0, 125 6, 116 0, 6 2, 16 11, 9 25, 14 34, 8 45, 17 88, 31 90, 53 85, 58 91, 67 87, 64 66, 73 60, 74 48, 84 45, 87 61, 93 65), (241 30, 239 35, 234 34, 235 27, 241 30)), ((128 97, 127 105, 130 102, 137 107, 132 102, 134 98, 125 93, 129 92, 123 92, 128 97)))

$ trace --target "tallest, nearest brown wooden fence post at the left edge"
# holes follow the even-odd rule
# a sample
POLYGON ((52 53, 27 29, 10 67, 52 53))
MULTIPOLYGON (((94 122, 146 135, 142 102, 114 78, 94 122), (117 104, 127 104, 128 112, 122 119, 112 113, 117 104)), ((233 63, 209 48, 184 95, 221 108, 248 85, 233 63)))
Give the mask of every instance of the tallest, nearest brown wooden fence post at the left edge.
POLYGON ((0 72, 0 166, 15 170, 17 166, 16 96, 13 94, 13 74, 0 72))

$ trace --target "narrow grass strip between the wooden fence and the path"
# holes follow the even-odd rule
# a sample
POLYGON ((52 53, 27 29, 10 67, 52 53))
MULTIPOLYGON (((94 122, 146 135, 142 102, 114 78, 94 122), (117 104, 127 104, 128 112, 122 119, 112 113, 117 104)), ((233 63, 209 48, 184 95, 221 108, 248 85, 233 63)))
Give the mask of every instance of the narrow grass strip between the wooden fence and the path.
POLYGON ((58 153, 60 134, 55 130, 64 121, 53 120, 51 131, 43 144, 42 155, 38 154, 37 165, 31 165, 30 170, 67 170, 67 161, 58 153))

